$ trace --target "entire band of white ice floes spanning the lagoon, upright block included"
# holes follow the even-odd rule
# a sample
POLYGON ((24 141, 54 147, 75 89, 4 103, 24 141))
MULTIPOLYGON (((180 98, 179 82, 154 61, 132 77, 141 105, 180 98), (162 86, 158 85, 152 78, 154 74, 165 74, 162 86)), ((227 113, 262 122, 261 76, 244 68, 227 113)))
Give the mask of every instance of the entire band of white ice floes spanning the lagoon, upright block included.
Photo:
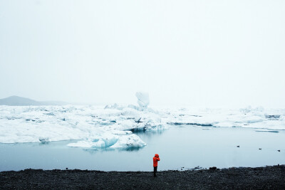
POLYGON ((142 147, 133 132, 164 130, 179 125, 246 127, 285 130, 285 109, 240 110, 195 109, 191 107, 147 107, 148 95, 137 93, 136 105, 98 106, 0 106, 0 142, 52 142, 78 139, 70 147, 142 147), (143 109, 142 109, 143 108, 143 109))

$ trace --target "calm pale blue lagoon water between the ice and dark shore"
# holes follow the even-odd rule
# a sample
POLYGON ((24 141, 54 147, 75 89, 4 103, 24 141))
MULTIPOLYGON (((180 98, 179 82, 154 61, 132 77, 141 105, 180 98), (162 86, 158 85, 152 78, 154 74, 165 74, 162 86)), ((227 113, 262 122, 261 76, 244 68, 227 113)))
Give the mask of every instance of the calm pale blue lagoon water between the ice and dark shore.
POLYGON ((203 129, 207 128, 181 126, 160 132, 141 132, 138 135, 147 146, 129 150, 67 147, 66 144, 72 141, 0 144, 0 171, 66 167, 151 171, 155 153, 160 154, 161 159, 158 170, 285 164, 285 131, 256 132, 254 129, 224 127, 203 129))

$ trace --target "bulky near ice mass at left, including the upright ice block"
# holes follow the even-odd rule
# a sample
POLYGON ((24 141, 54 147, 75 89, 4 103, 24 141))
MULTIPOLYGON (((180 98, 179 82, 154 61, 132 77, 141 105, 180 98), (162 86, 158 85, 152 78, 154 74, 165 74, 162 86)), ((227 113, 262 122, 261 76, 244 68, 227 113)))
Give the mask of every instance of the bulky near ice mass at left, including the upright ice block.
POLYGON ((148 95, 138 93, 140 107, 124 105, 0 106, 0 142, 47 143, 78 140, 69 147, 143 147, 137 130, 162 130, 160 113, 147 109, 148 95))

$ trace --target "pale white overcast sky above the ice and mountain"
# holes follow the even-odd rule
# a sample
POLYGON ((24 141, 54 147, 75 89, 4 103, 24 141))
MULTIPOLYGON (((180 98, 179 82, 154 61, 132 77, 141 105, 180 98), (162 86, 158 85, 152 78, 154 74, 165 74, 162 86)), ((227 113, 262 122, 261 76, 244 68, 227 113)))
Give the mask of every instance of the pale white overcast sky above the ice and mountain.
POLYGON ((285 1, 0 0, 0 98, 285 107, 285 1))

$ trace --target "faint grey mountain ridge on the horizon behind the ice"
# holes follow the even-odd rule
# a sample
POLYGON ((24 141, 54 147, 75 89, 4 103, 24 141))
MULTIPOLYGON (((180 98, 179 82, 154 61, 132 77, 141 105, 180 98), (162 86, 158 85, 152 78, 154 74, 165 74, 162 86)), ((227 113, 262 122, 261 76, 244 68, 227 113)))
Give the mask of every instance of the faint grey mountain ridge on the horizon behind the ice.
POLYGON ((0 99, 0 105, 67 105, 67 102, 36 101, 16 95, 0 99))

